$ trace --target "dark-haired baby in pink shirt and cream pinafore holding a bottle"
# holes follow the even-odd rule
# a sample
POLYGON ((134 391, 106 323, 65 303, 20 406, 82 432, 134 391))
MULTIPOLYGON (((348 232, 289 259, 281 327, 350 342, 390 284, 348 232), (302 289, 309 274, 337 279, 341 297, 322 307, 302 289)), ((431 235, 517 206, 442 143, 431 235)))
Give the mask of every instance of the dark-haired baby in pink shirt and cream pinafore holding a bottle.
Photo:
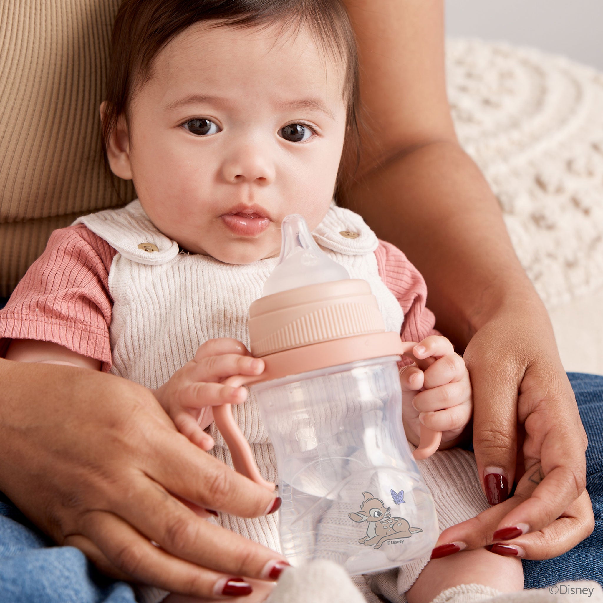
MULTIPOLYGON (((339 0, 125 0, 101 117, 110 168, 133 180, 138 199, 53 233, 0 314, 7 358, 143 384, 225 463, 211 407, 236 404, 263 477, 276 481, 253 399, 223 381, 264 370, 245 347, 248 307, 276 265, 282 219, 299 213, 330 257, 368 280, 387 329, 420 342, 413 353, 425 370, 405 362, 400 376, 406 437, 417 444, 423 424, 443 431, 441 449, 452 447, 471 414, 463 359, 433 330, 425 283, 402 252, 332 201, 357 104, 354 37, 339 0)), ((487 508, 470 453, 438 452, 420 466, 440 529, 487 508)), ((275 514, 216 521, 279 550, 275 514)), ((359 584, 372 601, 377 592, 409 603, 467 584, 444 599, 476 601, 522 589, 523 575, 520 560, 482 549, 359 584)), ((239 587, 245 600, 264 601, 239 587)))

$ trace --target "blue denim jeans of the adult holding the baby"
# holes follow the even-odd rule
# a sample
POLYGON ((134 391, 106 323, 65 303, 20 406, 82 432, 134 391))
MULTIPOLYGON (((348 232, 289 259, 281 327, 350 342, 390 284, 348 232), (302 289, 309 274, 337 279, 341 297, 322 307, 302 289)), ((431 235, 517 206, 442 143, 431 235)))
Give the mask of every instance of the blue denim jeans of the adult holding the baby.
MULTIPOLYGON (((589 437, 587 490, 595 511, 595 531, 561 557, 524 561, 526 588, 581 578, 603 584, 603 376, 569 373, 569 379, 589 437)), ((78 549, 53 546, 10 500, 0 497, 0 600, 130 603, 135 599, 128 584, 101 576, 78 549)))

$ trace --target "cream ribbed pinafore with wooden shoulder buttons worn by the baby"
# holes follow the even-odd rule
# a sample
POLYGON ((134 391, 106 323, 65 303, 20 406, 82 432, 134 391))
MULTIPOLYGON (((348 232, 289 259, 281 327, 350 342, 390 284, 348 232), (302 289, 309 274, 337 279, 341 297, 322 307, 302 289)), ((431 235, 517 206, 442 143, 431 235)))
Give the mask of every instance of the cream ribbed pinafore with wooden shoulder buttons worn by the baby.
MULTIPOLYGON (((232 337, 249 347, 248 309, 262 295, 264 281, 278 262, 276 257, 234 265, 180 252, 175 241, 153 226, 139 201, 83 216, 77 223, 85 224, 118 251, 109 271, 114 303, 111 373, 157 388, 208 339, 232 337), (158 251, 145 251, 139 247, 143 244, 152 244, 158 251)), ((399 333, 403 311, 379 277, 373 253, 379 241, 361 216, 332 203, 314 237, 333 260, 347 268, 350 277, 370 283, 386 329, 399 333), (349 233, 358 236, 350 238, 349 233)), ((276 482, 273 447, 253 396, 234 406, 233 414, 251 444, 262 476, 276 482)), ((211 434, 216 445, 209 453, 232 466, 229 450, 213 426, 211 434)), ((219 523, 280 550, 276 516, 242 519, 221 514, 219 523)))

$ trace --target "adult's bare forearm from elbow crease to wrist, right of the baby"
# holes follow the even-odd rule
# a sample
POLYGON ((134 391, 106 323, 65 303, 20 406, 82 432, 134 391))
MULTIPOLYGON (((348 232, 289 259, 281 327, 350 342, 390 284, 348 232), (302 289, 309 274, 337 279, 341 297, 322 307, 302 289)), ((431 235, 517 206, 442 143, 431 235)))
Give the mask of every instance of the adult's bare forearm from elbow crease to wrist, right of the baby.
POLYGON ((420 270, 437 327, 458 346, 505 305, 548 324, 496 198, 458 144, 435 141, 390 156, 341 201, 420 270))

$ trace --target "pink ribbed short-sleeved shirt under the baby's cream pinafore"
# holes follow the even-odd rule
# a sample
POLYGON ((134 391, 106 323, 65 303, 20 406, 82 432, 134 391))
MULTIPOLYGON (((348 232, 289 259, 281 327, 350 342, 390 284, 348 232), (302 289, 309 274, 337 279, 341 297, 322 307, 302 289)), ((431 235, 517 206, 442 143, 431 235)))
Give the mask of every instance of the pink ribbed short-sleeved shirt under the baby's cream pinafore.
MULTIPOLYGON (((0 311, 0 356, 10 339, 52 341, 111 368, 109 326, 113 300, 109 270, 117 251, 83 224, 55 230, 44 253, 0 311)), ((421 341, 434 330, 425 306, 427 287, 394 245, 379 241, 379 275, 404 311, 403 341, 421 341)))

